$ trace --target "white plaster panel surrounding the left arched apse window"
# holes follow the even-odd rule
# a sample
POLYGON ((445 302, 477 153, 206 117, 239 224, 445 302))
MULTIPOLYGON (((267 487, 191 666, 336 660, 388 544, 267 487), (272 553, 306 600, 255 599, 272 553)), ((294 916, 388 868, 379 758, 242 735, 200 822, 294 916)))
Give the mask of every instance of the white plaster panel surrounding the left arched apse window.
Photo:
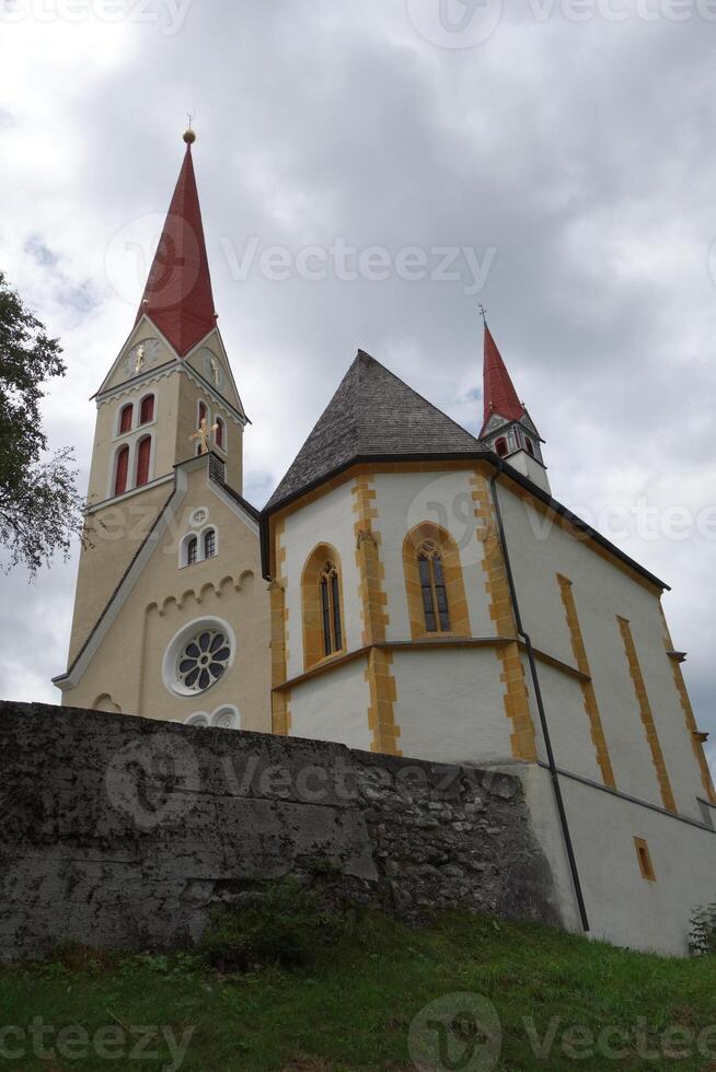
POLYGON ((362 644, 360 574, 356 566, 356 536, 353 527, 355 497, 350 492, 353 485, 353 480, 340 485, 286 518, 281 547, 285 547, 287 552, 284 573, 288 580, 286 606, 289 678, 303 673, 301 574, 316 544, 331 544, 340 556, 343 627, 347 650, 354 651, 362 644))

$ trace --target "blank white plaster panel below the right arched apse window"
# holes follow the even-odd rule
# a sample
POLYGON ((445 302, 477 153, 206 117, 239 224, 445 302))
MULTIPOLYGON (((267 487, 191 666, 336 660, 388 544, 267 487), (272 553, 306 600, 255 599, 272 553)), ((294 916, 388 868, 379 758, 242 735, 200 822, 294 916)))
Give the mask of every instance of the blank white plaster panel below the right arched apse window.
POLYGON ((511 757, 501 663, 492 648, 395 651, 395 721, 404 756, 436 762, 511 757))

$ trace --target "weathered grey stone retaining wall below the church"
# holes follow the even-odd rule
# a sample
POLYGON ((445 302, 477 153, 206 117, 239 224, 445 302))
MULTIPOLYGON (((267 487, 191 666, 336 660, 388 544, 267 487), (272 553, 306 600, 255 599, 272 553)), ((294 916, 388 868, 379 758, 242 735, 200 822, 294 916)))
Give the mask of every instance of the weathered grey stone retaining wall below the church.
POLYGON ((287 874, 411 920, 558 921, 509 774, 0 703, 0 958, 187 946, 213 904, 287 874))

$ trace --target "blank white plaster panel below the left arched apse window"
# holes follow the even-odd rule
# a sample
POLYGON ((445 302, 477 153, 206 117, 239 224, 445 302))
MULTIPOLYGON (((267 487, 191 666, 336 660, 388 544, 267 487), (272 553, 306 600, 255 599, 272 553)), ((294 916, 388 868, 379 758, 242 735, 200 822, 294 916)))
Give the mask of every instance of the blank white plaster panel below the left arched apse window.
POLYGON ((365 671, 365 657, 359 656, 328 674, 296 685, 289 704, 291 736, 337 741, 368 751, 370 690, 365 671))

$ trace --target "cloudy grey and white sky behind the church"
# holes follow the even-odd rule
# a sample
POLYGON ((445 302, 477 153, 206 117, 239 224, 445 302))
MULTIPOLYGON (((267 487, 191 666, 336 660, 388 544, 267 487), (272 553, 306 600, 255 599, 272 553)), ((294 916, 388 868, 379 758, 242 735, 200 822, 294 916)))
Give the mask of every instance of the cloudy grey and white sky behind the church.
MULTIPOLYGON (((0 0, 0 267, 65 348, 51 445, 84 487, 88 399, 193 112, 246 494, 358 346, 476 431, 484 302, 556 497, 673 584, 716 731, 715 21, 712 0, 0 0)), ((2 581, 4 696, 58 699, 76 566, 2 581)))

